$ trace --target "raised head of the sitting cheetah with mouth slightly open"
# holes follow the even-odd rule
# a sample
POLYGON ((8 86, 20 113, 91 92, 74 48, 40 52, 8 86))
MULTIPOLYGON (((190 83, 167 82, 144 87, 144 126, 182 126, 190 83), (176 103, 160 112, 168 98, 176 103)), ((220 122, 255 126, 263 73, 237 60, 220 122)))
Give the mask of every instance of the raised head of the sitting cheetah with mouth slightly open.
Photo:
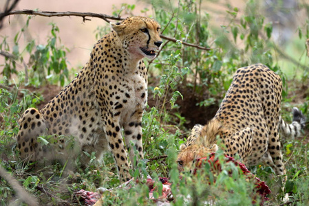
POLYGON ((111 23, 122 46, 136 59, 156 57, 162 44, 160 25, 153 19, 142 16, 132 16, 120 23, 111 23))

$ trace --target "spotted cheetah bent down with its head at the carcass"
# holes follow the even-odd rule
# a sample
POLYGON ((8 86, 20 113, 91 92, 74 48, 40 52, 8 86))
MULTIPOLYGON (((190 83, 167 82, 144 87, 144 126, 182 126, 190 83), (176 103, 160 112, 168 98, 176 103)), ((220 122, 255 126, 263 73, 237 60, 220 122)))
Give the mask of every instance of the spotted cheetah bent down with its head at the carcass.
POLYGON ((195 159, 216 152, 219 136, 226 155, 238 154, 246 165, 262 161, 276 174, 286 174, 279 133, 298 137, 306 119, 297 108, 292 124, 281 119, 281 92, 281 78, 265 65, 237 69, 215 117, 205 126, 195 125, 180 146, 178 170, 191 169, 195 159))

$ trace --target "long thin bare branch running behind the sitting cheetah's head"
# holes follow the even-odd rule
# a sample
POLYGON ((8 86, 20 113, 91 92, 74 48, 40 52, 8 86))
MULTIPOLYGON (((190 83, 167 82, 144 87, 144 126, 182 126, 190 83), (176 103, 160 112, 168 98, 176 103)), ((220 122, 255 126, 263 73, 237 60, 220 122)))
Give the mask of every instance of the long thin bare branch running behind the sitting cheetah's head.
MULTIPOLYGON (((52 17, 52 16, 81 16, 83 17, 83 21, 85 22, 90 21, 90 19, 86 19, 86 17, 94 17, 94 18, 99 18, 99 19, 103 19, 106 22, 110 22, 109 19, 111 20, 123 20, 122 17, 120 16, 109 16, 106 14, 96 14, 96 13, 91 13, 91 12, 46 12, 46 11, 34 11, 34 10, 19 10, 19 11, 12 11, 12 12, 8 12, 6 14, 0 14, 1 15, 5 15, 5 16, 10 16, 10 15, 17 15, 17 14, 27 14, 27 15, 36 15, 36 16, 46 16, 46 17, 52 17)), ((172 41, 172 42, 177 42, 177 39, 175 38, 170 38, 168 36, 164 36, 164 35, 160 35, 161 38, 166 39, 168 41, 172 41)), ((195 47, 198 49, 202 49, 202 50, 211 50, 210 48, 206 48, 206 47, 201 47, 200 45, 194 45, 191 43, 187 43, 187 42, 182 42, 183 45, 189 46, 189 47, 195 47)))

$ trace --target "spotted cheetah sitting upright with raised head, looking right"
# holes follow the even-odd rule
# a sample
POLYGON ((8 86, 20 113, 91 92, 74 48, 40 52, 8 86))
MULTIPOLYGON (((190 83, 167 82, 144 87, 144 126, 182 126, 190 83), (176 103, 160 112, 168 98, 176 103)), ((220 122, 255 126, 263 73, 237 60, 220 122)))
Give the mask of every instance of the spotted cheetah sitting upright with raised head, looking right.
POLYGON ((70 84, 41 111, 28 108, 23 113, 17 135, 22 159, 63 158, 63 146, 45 150, 37 137, 72 136, 79 151, 96 152, 96 157, 100 157, 103 150, 111 150, 120 180, 131 178, 125 144, 131 164, 131 141, 143 158, 142 113, 147 102, 147 70, 142 59, 156 57, 162 44, 160 25, 153 19, 133 16, 111 23, 111 28, 94 45, 89 62, 70 84))

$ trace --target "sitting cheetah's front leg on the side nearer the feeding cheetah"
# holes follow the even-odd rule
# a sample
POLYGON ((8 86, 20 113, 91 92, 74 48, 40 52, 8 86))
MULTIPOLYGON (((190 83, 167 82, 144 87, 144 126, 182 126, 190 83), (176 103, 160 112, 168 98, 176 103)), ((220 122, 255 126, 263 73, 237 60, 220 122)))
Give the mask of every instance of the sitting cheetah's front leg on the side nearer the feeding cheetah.
POLYGON ((125 144, 127 145, 129 156, 131 160, 132 167, 134 165, 134 148, 131 144, 134 144, 136 150, 138 150, 138 155, 140 159, 144 158, 144 154, 142 151, 142 113, 143 110, 137 110, 132 115, 129 121, 124 124, 125 129, 125 144))

